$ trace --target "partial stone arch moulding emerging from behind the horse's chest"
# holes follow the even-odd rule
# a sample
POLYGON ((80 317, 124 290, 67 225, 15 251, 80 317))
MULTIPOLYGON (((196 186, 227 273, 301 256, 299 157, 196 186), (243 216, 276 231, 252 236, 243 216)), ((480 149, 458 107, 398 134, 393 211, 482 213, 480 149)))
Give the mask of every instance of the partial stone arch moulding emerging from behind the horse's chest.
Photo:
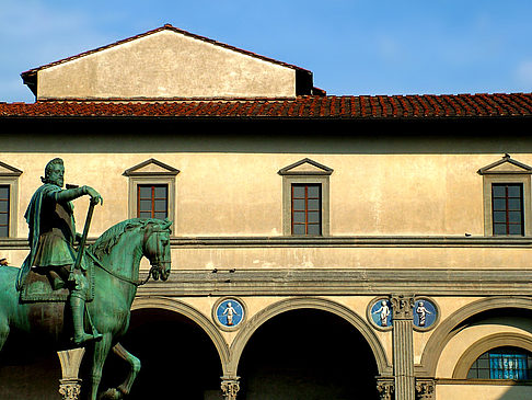
POLYGON ((230 355, 229 347, 225 340, 222 338, 220 331, 215 327, 215 324, 207 319, 201 312, 196 310, 194 307, 171 298, 166 297, 140 297, 135 299, 131 311, 140 310, 144 308, 160 308, 167 311, 173 311, 181 313, 194 322, 196 322, 205 333, 210 338, 216 346, 220 362, 222 365, 223 375, 227 375, 227 366, 229 365, 230 355))

